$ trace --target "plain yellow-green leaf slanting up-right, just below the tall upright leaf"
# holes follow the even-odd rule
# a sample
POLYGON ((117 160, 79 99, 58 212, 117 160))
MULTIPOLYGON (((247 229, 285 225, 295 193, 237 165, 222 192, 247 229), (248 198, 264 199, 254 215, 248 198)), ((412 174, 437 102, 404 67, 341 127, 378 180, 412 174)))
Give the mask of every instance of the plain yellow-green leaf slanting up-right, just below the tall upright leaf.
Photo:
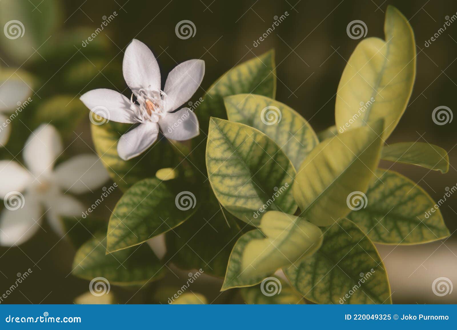
POLYGON ((382 120, 320 142, 295 177, 293 196, 302 215, 319 226, 351 211, 349 194, 366 192, 381 153, 382 120))

